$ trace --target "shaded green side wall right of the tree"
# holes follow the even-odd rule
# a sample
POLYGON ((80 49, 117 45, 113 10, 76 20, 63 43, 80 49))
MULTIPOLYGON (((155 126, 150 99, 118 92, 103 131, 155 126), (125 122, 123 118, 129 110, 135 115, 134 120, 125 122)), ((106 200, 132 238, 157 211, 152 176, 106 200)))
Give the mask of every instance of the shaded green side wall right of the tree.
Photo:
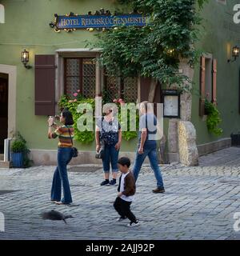
POLYGON ((198 47, 207 53, 213 54, 218 61, 217 74, 217 101, 221 113, 223 129, 222 136, 210 134, 206 129, 206 121, 198 115, 199 98, 199 65, 194 72, 194 95, 192 108, 192 122, 197 130, 197 143, 216 141, 220 138, 229 138, 230 134, 240 131, 240 114, 238 113, 239 94, 239 66, 240 60, 227 63, 231 57, 233 46, 240 44, 240 25, 233 22, 233 8, 239 1, 227 1, 222 5, 210 0, 202 10, 204 18, 201 42, 198 47))

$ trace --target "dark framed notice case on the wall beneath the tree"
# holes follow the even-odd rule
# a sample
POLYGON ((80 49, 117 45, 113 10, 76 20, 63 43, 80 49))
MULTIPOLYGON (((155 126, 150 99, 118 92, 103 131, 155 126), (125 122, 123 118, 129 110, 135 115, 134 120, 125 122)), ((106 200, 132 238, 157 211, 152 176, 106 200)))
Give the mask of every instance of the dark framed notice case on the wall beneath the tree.
POLYGON ((180 94, 177 90, 162 90, 163 117, 180 118, 180 94))

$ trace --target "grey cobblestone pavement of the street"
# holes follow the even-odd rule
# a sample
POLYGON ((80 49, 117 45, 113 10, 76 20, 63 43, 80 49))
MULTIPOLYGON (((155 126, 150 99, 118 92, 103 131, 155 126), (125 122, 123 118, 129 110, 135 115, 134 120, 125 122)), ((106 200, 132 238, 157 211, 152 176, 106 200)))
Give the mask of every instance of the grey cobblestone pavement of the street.
POLYGON ((240 239, 240 231, 234 231, 234 213, 240 212, 240 148, 203 156, 196 167, 162 166, 165 194, 151 192, 154 174, 144 166, 132 204, 141 225, 133 228, 127 221, 115 221, 117 187, 99 186, 102 170, 93 167, 70 168, 72 206, 49 201, 54 166, 1 169, 5 232, 0 232, 0 239, 240 239), (40 218, 52 209, 74 218, 67 225, 40 218))

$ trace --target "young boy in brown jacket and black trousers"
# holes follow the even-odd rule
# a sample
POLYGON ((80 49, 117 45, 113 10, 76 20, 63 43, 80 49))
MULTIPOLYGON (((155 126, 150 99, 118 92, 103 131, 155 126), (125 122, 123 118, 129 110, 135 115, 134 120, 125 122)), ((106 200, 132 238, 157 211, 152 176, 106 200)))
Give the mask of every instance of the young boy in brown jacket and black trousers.
POLYGON ((125 218, 130 219, 130 223, 127 226, 138 226, 138 219, 130 210, 130 204, 134 200, 134 194, 136 192, 134 174, 129 170, 130 159, 129 158, 119 158, 118 168, 122 172, 119 178, 118 185, 118 197, 114 202, 114 208, 120 215, 118 221, 122 221, 125 218))

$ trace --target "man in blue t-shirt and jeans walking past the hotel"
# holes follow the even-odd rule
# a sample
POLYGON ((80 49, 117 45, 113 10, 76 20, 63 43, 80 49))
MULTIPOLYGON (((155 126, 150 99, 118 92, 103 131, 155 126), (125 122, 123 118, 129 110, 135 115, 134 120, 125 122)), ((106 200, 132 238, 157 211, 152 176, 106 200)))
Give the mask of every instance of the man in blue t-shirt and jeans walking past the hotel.
POLYGON ((140 104, 141 118, 139 120, 139 140, 136 158, 134 162, 134 178, 137 182, 139 171, 142 167, 146 156, 150 160, 150 166, 154 170, 155 178, 157 179, 157 188, 153 190, 154 193, 164 193, 164 186, 162 181, 161 170, 158 166, 157 158, 157 118, 154 115, 154 110, 149 102, 142 102, 140 104))

